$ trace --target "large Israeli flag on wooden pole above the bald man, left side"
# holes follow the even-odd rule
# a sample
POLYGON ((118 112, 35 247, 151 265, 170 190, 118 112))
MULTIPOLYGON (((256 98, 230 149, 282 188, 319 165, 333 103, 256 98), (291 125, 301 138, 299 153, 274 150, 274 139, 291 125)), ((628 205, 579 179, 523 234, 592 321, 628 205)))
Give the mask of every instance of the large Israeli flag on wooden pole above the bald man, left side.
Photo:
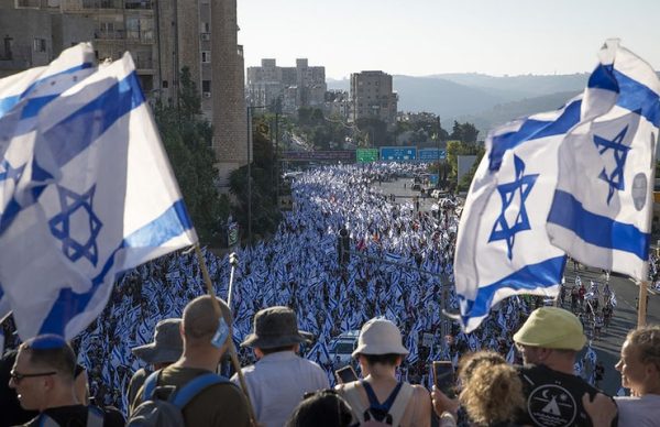
POLYGON ((197 236, 129 54, 43 106, 32 135, 9 141, 30 155, 7 195, 0 287, 23 340, 70 339, 119 273, 197 236))

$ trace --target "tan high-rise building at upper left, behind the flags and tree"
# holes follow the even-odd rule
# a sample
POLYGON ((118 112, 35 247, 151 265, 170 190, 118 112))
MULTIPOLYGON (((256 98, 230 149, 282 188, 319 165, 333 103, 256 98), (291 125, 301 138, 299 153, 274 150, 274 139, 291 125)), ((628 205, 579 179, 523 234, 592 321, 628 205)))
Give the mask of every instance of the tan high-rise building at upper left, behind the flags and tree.
MULTIPOLYGON (((22 67, 12 65, 13 73, 47 64, 70 46, 80 29, 88 31, 77 41, 91 40, 99 59, 118 59, 131 52, 150 100, 176 105, 180 70, 188 67, 202 113, 213 125, 220 184, 227 184, 229 173, 246 163, 244 64, 237 42, 235 0, 0 0, 0 7, 14 14, 30 13, 29 19, 16 20, 20 25, 14 26, 22 24, 21 32, 2 34, 6 44, 0 45, 0 54, 7 54, 9 46, 12 58, 26 56, 22 55, 25 46, 34 43, 32 61, 23 61, 22 67), (54 24, 55 35, 50 37, 42 24, 47 15, 59 17, 51 18, 53 22, 66 21, 54 24), (78 21, 87 26, 75 24, 78 21)), ((2 11, 0 23, 8 15, 2 11)))

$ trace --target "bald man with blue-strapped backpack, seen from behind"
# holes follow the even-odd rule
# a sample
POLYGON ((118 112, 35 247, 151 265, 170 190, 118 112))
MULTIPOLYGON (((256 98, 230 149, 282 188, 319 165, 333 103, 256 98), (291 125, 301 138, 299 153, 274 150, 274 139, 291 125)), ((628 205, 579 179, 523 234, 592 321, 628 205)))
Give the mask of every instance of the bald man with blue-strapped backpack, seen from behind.
POLYGON ((128 426, 251 426, 245 395, 215 373, 232 337, 231 310, 223 300, 217 302, 205 295, 186 305, 180 327, 184 352, 144 381, 128 426))

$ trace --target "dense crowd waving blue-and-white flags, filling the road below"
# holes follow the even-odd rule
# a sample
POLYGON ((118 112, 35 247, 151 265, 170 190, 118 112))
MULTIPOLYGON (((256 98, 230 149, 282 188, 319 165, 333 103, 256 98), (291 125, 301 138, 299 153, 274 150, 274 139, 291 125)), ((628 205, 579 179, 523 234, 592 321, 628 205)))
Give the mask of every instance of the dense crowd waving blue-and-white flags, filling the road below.
MULTIPOLYGON (((299 328, 314 336, 312 342, 300 342, 297 350, 318 363, 329 385, 336 384, 334 370, 340 368, 332 340, 373 318, 391 320, 403 337, 406 354, 393 371, 402 381, 430 388, 431 361, 449 360, 458 368, 463 355, 479 351, 497 353, 509 364, 522 362, 525 351, 516 347, 514 332, 532 310, 551 302, 542 297, 508 298, 493 309, 482 327, 468 335, 442 316, 443 309, 455 313, 459 305, 453 292, 458 228, 453 204, 437 214, 422 212, 410 202, 392 201, 374 185, 411 176, 419 167, 340 165, 298 177, 293 184, 294 209, 286 212, 275 236, 237 251, 231 298, 235 346, 254 332, 253 320, 260 310, 286 306, 299 328), (344 262, 338 256, 341 230, 351 239, 351 255, 344 262), (422 342, 422 337, 430 340, 422 342)), ((231 275, 228 256, 205 252, 204 258, 215 292, 227 299, 231 275)), ((576 283, 575 288, 583 289, 580 285, 576 283)), ((580 316, 591 310, 595 319, 596 302, 612 305, 614 294, 608 293, 608 287, 592 286, 574 305, 568 296, 572 291, 564 287, 561 303, 580 316)), ((148 343, 158 321, 180 318, 186 304, 204 294, 194 253, 164 256, 128 272, 118 282, 107 309, 73 343, 97 404, 117 406, 128 414, 133 404, 131 377, 150 365, 131 349, 148 343)), ((591 329, 584 321, 583 327, 591 329)), ((597 338, 595 329, 592 333, 597 338)), ((11 337, 7 344, 12 347, 11 337)), ((240 347, 241 365, 257 359, 250 347, 240 347)), ((362 363, 354 358, 352 363, 366 376, 365 366, 371 363, 373 369, 376 362, 362 363)), ((597 365, 596 354, 587 344, 571 369, 594 384, 597 365)))

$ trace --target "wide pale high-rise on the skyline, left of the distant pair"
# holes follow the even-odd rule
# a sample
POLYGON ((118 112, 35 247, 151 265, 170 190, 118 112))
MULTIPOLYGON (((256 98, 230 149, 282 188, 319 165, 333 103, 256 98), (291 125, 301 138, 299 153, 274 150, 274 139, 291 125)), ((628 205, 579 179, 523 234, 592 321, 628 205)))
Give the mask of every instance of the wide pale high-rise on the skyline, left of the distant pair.
POLYGON ((248 67, 248 100, 251 106, 279 103, 285 113, 300 107, 322 107, 327 90, 326 67, 310 67, 306 58, 295 67, 278 67, 275 59, 262 59, 261 67, 248 67))

